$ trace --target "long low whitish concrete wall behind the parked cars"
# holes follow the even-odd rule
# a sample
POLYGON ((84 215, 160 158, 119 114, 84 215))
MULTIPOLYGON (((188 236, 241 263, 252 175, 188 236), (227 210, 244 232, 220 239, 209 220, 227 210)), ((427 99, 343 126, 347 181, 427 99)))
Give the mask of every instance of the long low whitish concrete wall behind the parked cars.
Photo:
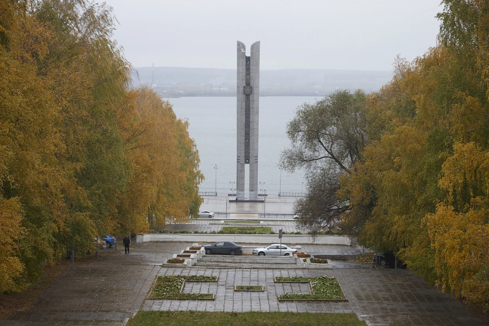
MULTIPOLYGON (((242 243, 279 243, 278 234, 176 234, 176 233, 148 233, 138 234, 136 242, 217 242, 231 241, 236 244, 242 243)), ((344 235, 318 235, 313 240, 310 235, 284 234, 282 237, 284 244, 296 243, 317 243, 317 244, 342 244, 349 246, 350 239, 344 235)))

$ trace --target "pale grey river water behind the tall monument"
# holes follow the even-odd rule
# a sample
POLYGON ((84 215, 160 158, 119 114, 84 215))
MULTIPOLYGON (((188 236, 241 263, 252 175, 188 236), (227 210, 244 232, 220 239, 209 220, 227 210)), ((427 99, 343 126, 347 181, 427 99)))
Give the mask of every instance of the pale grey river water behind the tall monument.
MULTIPOLYGON (((180 119, 188 119, 188 132, 197 144, 200 170, 205 180, 201 192, 227 194, 236 181, 236 98, 182 97, 168 99, 180 119), (218 169, 214 169, 215 165, 218 169), (231 182, 231 183, 230 183, 231 182)), ((260 97, 258 191, 277 196, 279 190, 301 193, 306 189, 302 171, 281 172, 282 151, 290 147, 285 133, 287 122, 295 116, 297 106, 314 102, 314 97, 260 97)), ((245 171, 247 172, 247 169, 245 171)), ((248 173, 245 175, 248 180, 248 173)), ((248 191, 248 181, 246 181, 248 191)))

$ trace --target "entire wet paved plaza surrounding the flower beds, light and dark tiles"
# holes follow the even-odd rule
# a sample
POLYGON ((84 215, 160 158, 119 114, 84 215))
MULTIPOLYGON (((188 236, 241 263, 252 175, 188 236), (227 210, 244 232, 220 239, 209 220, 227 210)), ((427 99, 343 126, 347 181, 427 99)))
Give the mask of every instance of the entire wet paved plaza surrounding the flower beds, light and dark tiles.
MULTIPOLYGON (((124 325, 140 310, 283 311, 355 313, 368 325, 484 325, 451 295, 429 287, 405 269, 368 264, 334 264, 333 269, 166 268, 158 263, 192 243, 135 243, 101 261, 75 264, 28 311, 1 320, 2 325, 124 325), (350 267, 350 268, 345 268, 350 267), (145 300, 158 275, 213 275, 219 281, 185 286, 185 292, 214 293, 215 301, 145 300), (274 283, 276 276, 336 277, 347 303, 279 303, 277 295, 308 291, 299 284, 274 283), (264 292, 234 292, 234 285, 264 285, 264 292)), ((307 244, 312 254, 358 252, 347 246, 307 244)), ((112 249, 111 249, 112 250, 112 249)))

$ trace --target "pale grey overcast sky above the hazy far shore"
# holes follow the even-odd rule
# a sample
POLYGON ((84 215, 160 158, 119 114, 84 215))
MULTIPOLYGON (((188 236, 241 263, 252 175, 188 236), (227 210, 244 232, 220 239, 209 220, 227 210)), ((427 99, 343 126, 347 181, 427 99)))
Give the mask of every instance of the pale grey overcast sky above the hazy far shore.
POLYGON ((259 40, 260 68, 392 70, 436 45, 440 0, 105 0, 134 67, 236 68, 259 40))

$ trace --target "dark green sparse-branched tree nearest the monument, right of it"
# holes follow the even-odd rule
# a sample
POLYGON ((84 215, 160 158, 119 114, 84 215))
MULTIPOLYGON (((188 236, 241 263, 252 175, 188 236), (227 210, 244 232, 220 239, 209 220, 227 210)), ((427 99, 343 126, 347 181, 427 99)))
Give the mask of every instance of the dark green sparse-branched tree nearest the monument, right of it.
POLYGON ((332 231, 339 214, 348 210, 348 200, 336 193, 340 176, 349 173, 367 141, 365 100, 360 90, 337 91, 303 104, 287 124, 292 146, 282 153, 281 166, 306 171, 307 195, 297 200, 295 211, 302 226, 313 233, 332 231))

